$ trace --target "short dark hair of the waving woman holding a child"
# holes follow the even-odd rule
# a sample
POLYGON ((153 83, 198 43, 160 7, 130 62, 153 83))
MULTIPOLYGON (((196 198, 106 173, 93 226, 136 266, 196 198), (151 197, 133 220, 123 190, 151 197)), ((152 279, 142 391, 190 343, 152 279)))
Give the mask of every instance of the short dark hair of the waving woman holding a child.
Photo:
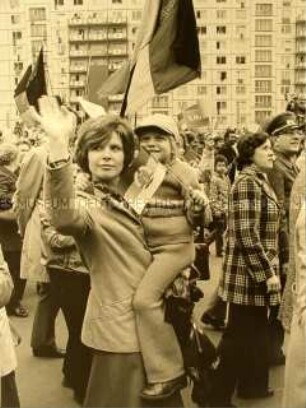
POLYGON ((124 167, 126 169, 133 161, 136 150, 136 137, 129 123, 115 115, 99 116, 88 119, 78 131, 75 147, 75 161, 81 169, 90 173, 88 152, 101 144, 107 143, 112 133, 119 135, 124 151, 124 167))

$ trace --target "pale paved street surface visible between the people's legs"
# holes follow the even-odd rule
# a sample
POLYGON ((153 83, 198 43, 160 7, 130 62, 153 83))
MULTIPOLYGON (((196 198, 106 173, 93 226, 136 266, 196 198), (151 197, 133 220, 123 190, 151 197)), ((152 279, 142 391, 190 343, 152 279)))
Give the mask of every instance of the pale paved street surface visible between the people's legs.
MULTIPOLYGON (((200 283, 200 287, 205 292, 205 299, 199 302, 195 308, 196 319, 199 319, 212 286, 218 280, 220 270, 220 260, 212 256, 211 275, 209 282, 200 283)), ((30 349, 30 335, 32 320, 36 304, 35 286, 29 284, 26 289, 24 304, 30 310, 30 316, 26 319, 13 318, 13 323, 22 336, 22 344, 17 348, 19 367, 17 371, 17 381, 23 408, 74 408, 78 404, 73 400, 70 390, 61 386, 61 360, 41 359, 33 357, 30 349)), ((57 342, 60 347, 65 346, 66 327, 62 316, 57 321, 57 342)), ((217 342, 220 334, 212 330, 207 330, 210 338, 217 342)), ((271 387, 275 390, 273 398, 264 400, 234 400, 239 407, 256 408, 279 408, 281 404, 281 394, 283 385, 283 368, 272 369, 271 387)), ((194 407, 190 401, 188 390, 184 391, 186 407, 194 407)))

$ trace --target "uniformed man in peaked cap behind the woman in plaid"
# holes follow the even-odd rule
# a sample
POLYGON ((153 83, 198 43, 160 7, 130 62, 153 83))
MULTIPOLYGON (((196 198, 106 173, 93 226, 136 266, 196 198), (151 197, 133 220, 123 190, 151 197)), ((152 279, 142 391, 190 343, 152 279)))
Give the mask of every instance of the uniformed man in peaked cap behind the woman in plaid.
MULTIPOLYGON (((298 174, 295 160, 301 146, 301 135, 296 117, 292 112, 284 112, 273 117, 264 130, 272 136, 275 162, 268 174, 270 183, 275 190, 282 207, 282 219, 279 233, 279 262, 282 288, 284 288, 289 262, 289 203, 293 182, 298 174)), ((285 356, 282 346, 284 331, 278 320, 279 310, 270 314, 271 365, 284 364, 285 356)))

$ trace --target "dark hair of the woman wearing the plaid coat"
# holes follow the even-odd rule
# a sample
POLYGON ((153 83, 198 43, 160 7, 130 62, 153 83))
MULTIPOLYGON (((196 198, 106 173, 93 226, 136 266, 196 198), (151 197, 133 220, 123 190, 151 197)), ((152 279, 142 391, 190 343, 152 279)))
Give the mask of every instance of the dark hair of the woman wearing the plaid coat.
POLYGON ((241 136, 237 143, 237 169, 241 170, 243 167, 252 164, 252 157, 255 150, 257 147, 263 145, 268 139, 269 135, 264 132, 247 133, 241 136))

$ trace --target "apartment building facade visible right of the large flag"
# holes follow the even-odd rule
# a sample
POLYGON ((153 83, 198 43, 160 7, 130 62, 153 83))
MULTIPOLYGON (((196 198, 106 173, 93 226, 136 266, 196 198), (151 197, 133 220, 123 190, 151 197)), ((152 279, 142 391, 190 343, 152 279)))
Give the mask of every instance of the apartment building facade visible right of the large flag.
POLYGON ((218 129, 261 123, 305 81, 304 0, 194 0, 202 78, 173 92, 174 111, 201 102, 218 129), (302 11, 303 10, 303 11, 302 11), (297 34, 299 33, 299 34, 297 34), (304 48, 303 48, 304 47, 304 48), (302 72, 302 69, 304 71, 302 72), (297 71, 299 70, 299 79, 297 71))

